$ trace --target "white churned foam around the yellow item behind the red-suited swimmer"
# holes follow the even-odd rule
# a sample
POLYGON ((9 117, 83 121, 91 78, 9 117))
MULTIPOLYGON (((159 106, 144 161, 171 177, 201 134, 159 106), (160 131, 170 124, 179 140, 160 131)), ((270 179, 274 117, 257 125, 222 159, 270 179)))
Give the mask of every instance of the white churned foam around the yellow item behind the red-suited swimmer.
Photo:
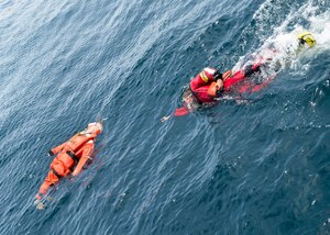
MULTIPOLYGON (((289 67, 304 72, 309 69, 309 65, 305 60, 322 52, 330 51, 330 10, 324 7, 327 2, 319 1, 315 3, 312 0, 308 0, 298 10, 293 10, 278 26, 270 25, 270 22, 273 22, 271 19, 274 16, 272 12, 274 9, 279 11, 278 4, 283 2, 279 0, 277 4, 274 4, 272 1, 266 1, 255 12, 253 18, 258 29, 273 29, 273 33, 263 40, 260 49, 253 54, 242 56, 233 70, 239 70, 246 64, 261 58, 272 58, 272 61, 270 61, 272 72, 278 70, 278 67, 289 67), (326 11, 323 11, 324 9, 326 11), (320 13, 321 11, 323 12, 320 13), (297 53, 298 35, 306 31, 311 32, 317 45, 297 53), (304 64, 301 64, 301 60, 304 60, 304 64)), ((263 37, 264 30, 258 31, 256 34, 263 37)))

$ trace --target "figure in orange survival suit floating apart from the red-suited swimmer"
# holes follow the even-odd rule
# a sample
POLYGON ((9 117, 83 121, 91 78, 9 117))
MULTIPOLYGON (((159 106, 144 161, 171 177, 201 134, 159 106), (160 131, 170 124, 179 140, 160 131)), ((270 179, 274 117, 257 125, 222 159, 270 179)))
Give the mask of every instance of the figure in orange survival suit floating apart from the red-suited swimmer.
POLYGON ((50 155, 56 155, 51 164, 51 170, 35 195, 40 200, 47 193, 51 186, 57 183, 62 177, 72 172, 77 176, 91 155, 95 148, 96 137, 102 132, 100 122, 89 123, 87 128, 73 136, 68 142, 54 147, 50 155))

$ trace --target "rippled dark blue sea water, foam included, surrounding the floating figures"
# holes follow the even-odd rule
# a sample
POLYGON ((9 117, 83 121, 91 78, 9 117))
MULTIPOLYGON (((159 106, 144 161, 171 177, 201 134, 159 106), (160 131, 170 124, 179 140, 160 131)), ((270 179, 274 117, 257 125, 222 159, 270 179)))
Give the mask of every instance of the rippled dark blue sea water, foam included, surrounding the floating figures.
POLYGON ((0 234, 330 233, 329 8, 0 1, 0 234), (304 30, 317 46, 251 102, 160 122, 205 66, 304 30), (47 150, 98 116, 96 163, 36 210, 47 150))

